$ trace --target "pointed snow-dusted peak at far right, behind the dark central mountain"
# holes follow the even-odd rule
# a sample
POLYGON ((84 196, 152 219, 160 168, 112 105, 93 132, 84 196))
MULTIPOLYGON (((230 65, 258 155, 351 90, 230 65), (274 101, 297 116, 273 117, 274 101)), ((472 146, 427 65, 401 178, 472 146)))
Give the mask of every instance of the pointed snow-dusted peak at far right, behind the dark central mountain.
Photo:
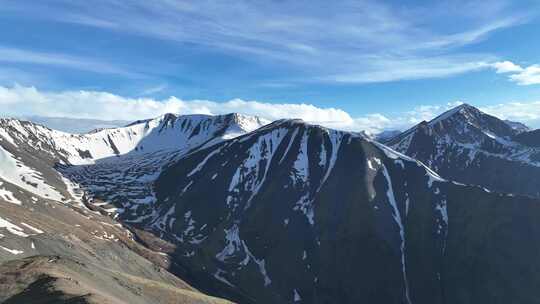
POLYGON ((540 141, 535 134, 464 104, 385 144, 445 178, 538 197, 540 145, 534 143, 540 141))

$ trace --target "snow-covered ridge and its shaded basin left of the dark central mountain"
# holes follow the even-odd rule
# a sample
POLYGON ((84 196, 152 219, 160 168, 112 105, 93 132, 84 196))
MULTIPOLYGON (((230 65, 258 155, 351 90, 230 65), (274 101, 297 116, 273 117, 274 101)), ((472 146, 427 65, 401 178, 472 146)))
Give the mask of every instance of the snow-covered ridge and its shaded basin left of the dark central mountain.
MULTIPOLYGON (((124 182, 143 180, 146 183, 152 176, 157 177, 167 159, 244 134, 266 123, 260 118, 239 114, 166 114, 122 128, 69 134, 27 121, 1 119, 0 179, 5 185, 0 189, 14 202, 18 200, 17 191, 8 194, 13 189, 7 190, 13 185, 62 201, 69 199, 67 191, 74 186, 73 182, 80 181, 75 177, 85 175, 98 180, 112 178, 108 188, 114 192, 111 185, 130 188, 120 179, 114 181, 120 173, 124 182), (103 170, 112 175, 107 176, 103 170), (72 177, 66 182, 68 174, 72 177), (145 178, 138 178, 143 175, 145 178)), ((92 180, 91 184, 100 187, 97 180, 92 180)))

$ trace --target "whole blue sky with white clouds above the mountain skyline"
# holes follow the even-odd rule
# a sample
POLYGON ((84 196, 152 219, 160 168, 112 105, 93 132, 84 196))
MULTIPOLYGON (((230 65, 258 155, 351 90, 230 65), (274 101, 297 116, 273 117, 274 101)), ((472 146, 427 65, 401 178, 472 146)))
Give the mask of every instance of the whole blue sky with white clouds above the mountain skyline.
POLYGON ((538 1, 334 2, 0 0, 0 105, 133 119, 222 104, 365 129, 462 101, 540 127, 538 1))

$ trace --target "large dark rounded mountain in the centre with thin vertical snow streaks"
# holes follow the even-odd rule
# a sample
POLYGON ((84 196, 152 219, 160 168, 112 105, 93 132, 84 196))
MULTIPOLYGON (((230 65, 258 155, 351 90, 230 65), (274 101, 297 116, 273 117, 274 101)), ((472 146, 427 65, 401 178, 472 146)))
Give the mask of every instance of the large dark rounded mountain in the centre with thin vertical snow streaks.
POLYGON ((155 191, 138 225, 177 244, 196 286, 240 303, 540 296, 539 201, 444 181, 348 133, 277 122, 185 156, 155 191))

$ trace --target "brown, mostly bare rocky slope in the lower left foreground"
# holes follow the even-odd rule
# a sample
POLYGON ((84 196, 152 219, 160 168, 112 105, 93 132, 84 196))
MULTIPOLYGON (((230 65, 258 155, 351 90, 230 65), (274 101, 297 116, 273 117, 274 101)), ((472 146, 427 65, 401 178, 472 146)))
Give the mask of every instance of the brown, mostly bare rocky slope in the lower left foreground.
POLYGON ((110 217, 15 191, 28 199, 0 197, 0 302, 227 303, 169 273, 163 253, 110 217))

